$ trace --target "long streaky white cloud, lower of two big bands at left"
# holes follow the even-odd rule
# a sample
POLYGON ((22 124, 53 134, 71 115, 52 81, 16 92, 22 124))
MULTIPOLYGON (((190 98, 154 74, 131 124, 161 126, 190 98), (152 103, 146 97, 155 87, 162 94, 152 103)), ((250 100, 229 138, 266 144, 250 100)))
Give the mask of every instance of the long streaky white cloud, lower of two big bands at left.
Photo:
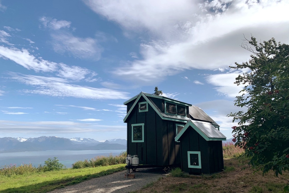
POLYGON ((105 88, 93 88, 69 84, 67 80, 55 77, 22 75, 11 73, 12 80, 36 87, 23 90, 25 93, 56 97, 75 97, 87 99, 128 99, 129 93, 105 88))

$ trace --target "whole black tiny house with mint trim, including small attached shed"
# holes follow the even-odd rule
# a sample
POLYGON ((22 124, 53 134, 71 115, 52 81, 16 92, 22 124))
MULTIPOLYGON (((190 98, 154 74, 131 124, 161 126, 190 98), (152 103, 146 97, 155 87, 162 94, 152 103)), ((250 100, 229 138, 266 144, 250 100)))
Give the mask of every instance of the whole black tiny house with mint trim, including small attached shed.
POLYGON ((160 95, 139 93, 127 106, 127 153, 139 163, 180 166, 192 174, 224 168, 219 125, 202 109, 160 95))

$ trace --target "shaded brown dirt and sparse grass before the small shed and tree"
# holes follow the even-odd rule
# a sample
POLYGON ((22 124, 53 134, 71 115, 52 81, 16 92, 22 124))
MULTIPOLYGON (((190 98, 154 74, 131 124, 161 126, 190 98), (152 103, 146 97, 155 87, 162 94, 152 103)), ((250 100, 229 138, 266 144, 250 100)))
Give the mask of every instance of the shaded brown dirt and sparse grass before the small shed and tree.
POLYGON ((285 172, 279 178, 274 177, 273 172, 267 173, 264 177, 262 172, 253 170, 241 170, 237 159, 225 159, 224 164, 227 172, 215 174, 212 177, 207 175, 201 177, 163 177, 148 188, 135 192, 282 192, 289 183, 289 173, 285 172), (229 171, 231 170, 231 171, 229 171))

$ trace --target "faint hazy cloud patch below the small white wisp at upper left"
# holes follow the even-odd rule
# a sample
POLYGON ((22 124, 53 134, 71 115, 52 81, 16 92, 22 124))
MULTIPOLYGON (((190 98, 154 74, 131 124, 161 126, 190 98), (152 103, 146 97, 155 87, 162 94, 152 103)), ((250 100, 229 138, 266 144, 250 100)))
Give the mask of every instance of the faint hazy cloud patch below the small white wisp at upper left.
POLYGON ((72 54, 76 58, 100 59, 102 47, 96 38, 75 37, 69 32, 52 33, 51 37, 55 52, 72 54))

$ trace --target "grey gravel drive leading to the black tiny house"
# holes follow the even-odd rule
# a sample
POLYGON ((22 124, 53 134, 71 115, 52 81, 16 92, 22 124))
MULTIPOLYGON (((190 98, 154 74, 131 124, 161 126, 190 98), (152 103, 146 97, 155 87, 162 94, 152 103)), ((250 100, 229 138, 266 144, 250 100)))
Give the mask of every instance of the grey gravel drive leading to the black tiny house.
POLYGON ((79 184, 66 186, 53 190, 50 193, 118 193, 131 192, 141 189, 143 186, 164 177, 162 168, 140 168, 139 172, 133 172, 135 179, 125 178, 126 171, 116 172, 108 176, 94 178, 79 184))

